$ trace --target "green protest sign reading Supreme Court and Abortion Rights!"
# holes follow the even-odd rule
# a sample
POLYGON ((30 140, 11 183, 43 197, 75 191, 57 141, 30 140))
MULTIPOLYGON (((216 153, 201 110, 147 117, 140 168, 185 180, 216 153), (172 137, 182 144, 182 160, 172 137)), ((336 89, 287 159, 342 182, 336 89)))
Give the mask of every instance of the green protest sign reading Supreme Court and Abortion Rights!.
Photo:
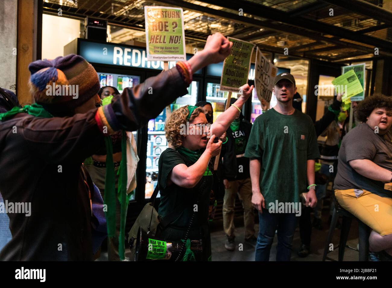
POLYGON ((238 93, 239 88, 248 83, 250 59, 256 45, 231 37, 227 39, 233 42, 233 47, 223 62, 220 90, 238 93))

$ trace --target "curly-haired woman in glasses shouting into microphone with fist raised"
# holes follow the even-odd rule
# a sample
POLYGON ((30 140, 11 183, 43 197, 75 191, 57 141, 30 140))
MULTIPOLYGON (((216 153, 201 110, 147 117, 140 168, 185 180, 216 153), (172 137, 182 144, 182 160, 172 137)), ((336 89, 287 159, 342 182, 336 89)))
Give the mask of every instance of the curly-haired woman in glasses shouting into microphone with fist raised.
POLYGON ((241 88, 243 94, 240 98, 211 127, 203 109, 191 105, 175 110, 166 121, 165 136, 169 148, 159 158, 161 201, 158 214, 165 217, 178 206, 185 208, 159 237, 166 241, 183 240, 184 247, 178 260, 184 255, 187 259, 193 258, 189 257, 193 254, 189 251, 189 241, 186 245, 188 239, 201 240, 203 244, 203 252, 194 255, 197 261, 211 260, 208 213, 214 171, 210 159, 219 154, 222 141, 218 138, 229 128, 252 94, 253 86, 245 84, 241 88))

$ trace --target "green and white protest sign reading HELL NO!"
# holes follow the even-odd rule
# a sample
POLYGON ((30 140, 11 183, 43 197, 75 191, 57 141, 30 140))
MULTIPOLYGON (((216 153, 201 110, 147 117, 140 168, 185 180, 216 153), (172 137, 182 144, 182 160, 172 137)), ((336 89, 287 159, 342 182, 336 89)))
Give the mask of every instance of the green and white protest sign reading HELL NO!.
POLYGON ((144 6, 148 61, 185 61, 182 8, 144 6))

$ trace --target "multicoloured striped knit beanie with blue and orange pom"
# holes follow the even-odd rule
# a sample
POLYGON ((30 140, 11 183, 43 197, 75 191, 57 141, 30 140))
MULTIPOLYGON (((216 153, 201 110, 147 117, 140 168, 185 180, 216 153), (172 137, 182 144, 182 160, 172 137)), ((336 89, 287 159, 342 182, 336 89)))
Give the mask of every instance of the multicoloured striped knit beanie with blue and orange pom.
POLYGON ((98 74, 83 57, 75 54, 29 65, 29 86, 36 103, 52 114, 72 114, 100 89, 98 74))

